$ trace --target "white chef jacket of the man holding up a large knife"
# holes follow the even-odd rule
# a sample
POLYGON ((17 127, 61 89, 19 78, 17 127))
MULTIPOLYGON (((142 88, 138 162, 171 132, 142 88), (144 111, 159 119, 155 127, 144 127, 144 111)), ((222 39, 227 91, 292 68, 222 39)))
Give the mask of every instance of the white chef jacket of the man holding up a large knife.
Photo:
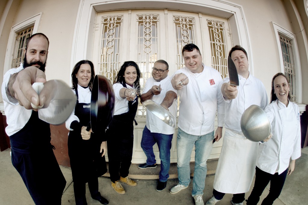
MULTIPOLYGON (((253 104, 265 109, 268 104, 268 98, 263 83, 256 77, 249 74, 246 80, 243 76, 238 75, 238 79, 240 85, 237 86, 237 97, 232 100, 226 100, 229 103, 226 104, 225 128, 243 136, 240 123, 243 112, 253 104)), ((228 81, 230 81, 229 77, 226 77, 223 83, 228 81)))

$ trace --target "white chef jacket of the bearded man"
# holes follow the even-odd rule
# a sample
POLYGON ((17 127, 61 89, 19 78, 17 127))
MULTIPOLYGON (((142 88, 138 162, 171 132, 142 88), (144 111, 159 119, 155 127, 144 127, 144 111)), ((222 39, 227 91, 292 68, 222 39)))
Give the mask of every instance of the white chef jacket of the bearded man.
POLYGON ((18 68, 12 68, 8 70, 3 76, 3 83, 1 87, 4 112, 6 114, 7 127, 5 128, 6 134, 11 136, 21 130, 29 121, 32 114, 32 110, 27 110, 23 106, 19 105, 15 98, 12 98, 7 94, 7 87, 10 81, 10 77, 14 73, 18 73, 23 69, 23 65, 20 64, 18 68))

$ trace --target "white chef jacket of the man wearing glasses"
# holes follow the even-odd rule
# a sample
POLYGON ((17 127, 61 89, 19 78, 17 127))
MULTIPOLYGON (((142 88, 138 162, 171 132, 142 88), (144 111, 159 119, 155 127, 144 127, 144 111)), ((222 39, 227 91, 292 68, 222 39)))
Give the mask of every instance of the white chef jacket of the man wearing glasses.
MULTIPOLYGON (((168 91, 173 91, 175 93, 177 93, 177 90, 173 89, 172 84, 171 84, 171 77, 167 76, 166 78, 164 78, 163 80, 157 82, 154 80, 153 77, 149 78, 143 88, 143 93, 148 92, 150 89, 152 89, 153 85, 157 85, 161 87, 161 92, 159 95, 153 95, 152 97, 152 101, 160 104, 163 102, 164 97, 166 96, 166 93, 168 91)), ((169 112, 171 112, 171 114, 173 116, 177 116, 177 98, 173 100, 172 105, 168 108, 169 112)), ((156 133, 161 133, 161 134, 165 134, 165 135, 171 135, 174 133, 174 129, 173 127, 169 126, 168 124, 164 123, 162 120, 160 120, 158 117, 156 117, 152 112, 150 112, 147 109, 147 116, 146 116, 146 125, 147 128, 151 131, 151 132, 156 132, 156 133)))

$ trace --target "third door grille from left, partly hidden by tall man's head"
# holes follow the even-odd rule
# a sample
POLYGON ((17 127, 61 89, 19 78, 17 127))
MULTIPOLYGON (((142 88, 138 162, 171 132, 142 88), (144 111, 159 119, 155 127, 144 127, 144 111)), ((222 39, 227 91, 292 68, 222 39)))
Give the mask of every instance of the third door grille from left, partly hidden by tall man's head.
POLYGON ((176 35, 176 68, 185 66, 182 49, 189 43, 196 44, 195 19, 193 17, 173 16, 176 35))

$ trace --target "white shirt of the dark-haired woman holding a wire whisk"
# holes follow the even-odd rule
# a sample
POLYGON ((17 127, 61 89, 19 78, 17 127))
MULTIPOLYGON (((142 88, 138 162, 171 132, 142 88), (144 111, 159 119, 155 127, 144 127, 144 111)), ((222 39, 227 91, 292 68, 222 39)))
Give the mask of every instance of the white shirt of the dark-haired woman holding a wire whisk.
MULTIPOLYGON (((128 100, 126 100, 126 98, 121 98, 120 97, 120 90, 122 88, 124 88, 123 85, 121 83, 115 83, 115 84, 112 85, 112 87, 113 87, 113 90, 115 92, 115 112, 114 112, 114 115, 120 115, 120 114, 128 112, 128 100)), ((126 84, 126 87, 127 88, 132 88, 128 84, 126 84)), ((137 98, 135 98, 133 100, 132 104, 138 103, 138 101, 136 99, 137 98)))

